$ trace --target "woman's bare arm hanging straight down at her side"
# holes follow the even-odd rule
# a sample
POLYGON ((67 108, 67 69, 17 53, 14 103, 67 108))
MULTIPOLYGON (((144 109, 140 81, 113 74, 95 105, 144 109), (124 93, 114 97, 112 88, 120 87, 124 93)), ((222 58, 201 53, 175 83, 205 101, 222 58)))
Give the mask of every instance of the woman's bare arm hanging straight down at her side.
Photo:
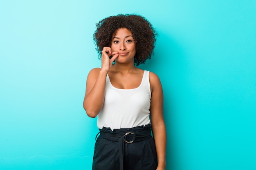
POLYGON ((150 117, 153 136, 157 150, 157 170, 165 170, 166 166, 166 128, 163 115, 163 91, 162 85, 154 73, 150 72, 151 106, 150 117))

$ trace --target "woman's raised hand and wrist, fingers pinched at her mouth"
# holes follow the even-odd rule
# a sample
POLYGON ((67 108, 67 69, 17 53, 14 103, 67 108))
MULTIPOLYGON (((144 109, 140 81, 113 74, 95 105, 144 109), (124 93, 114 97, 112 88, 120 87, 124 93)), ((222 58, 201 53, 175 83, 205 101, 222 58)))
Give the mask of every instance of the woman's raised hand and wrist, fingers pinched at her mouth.
POLYGON ((114 60, 118 57, 118 52, 112 52, 110 47, 103 47, 101 51, 101 70, 109 71, 114 60), (112 58, 109 57, 112 55, 112 58))

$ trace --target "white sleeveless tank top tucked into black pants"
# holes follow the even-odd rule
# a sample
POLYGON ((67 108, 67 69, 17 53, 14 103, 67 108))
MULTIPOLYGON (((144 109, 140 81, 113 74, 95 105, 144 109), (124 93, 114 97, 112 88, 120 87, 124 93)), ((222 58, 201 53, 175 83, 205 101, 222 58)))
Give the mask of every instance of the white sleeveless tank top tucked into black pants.
POLYGON ((105 100, 97 116, 98 128, 113 130, 149 124, 150 98, 149 71, 144 71, 141 84, 133 89, 115 88, 107 75, 105 100))

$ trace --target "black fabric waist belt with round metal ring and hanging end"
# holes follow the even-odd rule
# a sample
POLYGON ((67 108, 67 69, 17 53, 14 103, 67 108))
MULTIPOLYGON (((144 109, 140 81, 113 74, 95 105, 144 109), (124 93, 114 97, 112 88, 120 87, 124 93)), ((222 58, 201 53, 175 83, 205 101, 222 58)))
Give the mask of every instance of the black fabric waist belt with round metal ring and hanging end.
MULTIPOLYGON (((103 127, 104 128, 104 127, 103 127)), ((100 131, 104 139, 118 142, 119 144, 119 162, 120 170, 124 170, 124 145, 132 142, 139 142, 151 137, 151 125, 138 126, 135 128, 114 129, 114 131, 100 131), (147 128, 144 128, 147 127, 147 128), (132 137, 132 139, 131 139, 132 137), (128 139, 129 138, 129 139, 128 139), (130 140, 131 139, 131 140, 130 140)))

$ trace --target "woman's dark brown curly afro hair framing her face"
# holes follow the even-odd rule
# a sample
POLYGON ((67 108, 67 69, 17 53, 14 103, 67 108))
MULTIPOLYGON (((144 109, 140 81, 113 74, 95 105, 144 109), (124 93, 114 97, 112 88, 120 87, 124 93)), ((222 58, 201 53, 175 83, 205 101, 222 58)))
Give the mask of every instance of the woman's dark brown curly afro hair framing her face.
POLYGON ((153 55, 157 33, 152 24, 141 15, 119 14, 105 18, 96 24, 97 30, 93 35, 93 40, 97 46, 96 50, 101 58, 101 51, 104 46, 111 46, 112 36, 117 29, 126 28, 131 31, 136 42, 136 54, 134 64, 144 64, 153 55))

